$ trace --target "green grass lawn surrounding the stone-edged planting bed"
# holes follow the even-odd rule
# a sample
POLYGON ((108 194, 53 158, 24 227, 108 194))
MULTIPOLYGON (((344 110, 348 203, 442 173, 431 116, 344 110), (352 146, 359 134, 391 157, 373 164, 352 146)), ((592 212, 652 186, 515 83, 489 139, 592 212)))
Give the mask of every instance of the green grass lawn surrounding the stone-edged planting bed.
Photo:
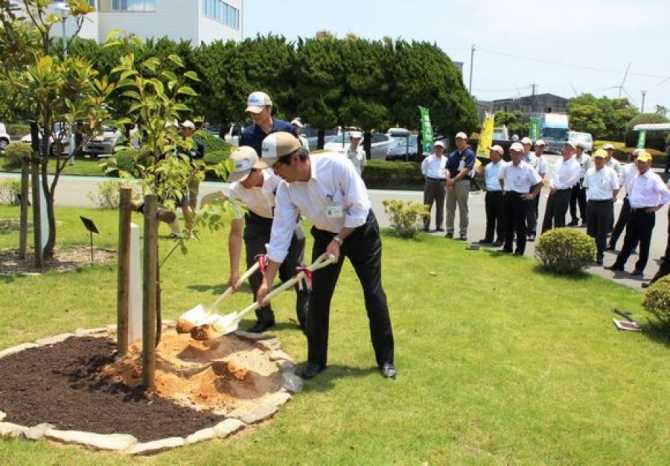
MULTIPOLYGON (((87 244, 81 209, 58 209, 63 243, 87 244)), ((116 214, 87 213, 114 247, 116 214)), ((0 206, 0 217, 18 217, 0 206)), ((141 217, 134 217, 136 222, 141 217)), ((166 227, 161 227, 166 228, 166 227)), ((161 230, 162 234, 167 229, 161 230)), ((161 271, 174 318, 223 291, 227 232, 206 233, 161 271)), ((668 338, 644 323, 642 295, 591 275, 558 277, 532 259, 422 235, 384 233, 384 286, 396 381, 374 366, 355 273, 333 299, 329 367, 267 424, 233 438, 130 459, 46 442, 0 441, 3 464, 667 464, 668 338), (643 333, 612 325, 633 312, 643 333)), ((15 234, 0 247, 16 247, 15 234)), ((164 255, 169 240, 161 244, 164 255)), ((115 319, 115 266, 0 278, 0 348, 115 319), (17 299, 18 298, 18 299, 17 299)), ((248 293, 225 307, 237 310, 248 293)), ((297 361, 306 345, 293 295, 277 298, 276 334, 297 361)), ((225 312, 225 311, 224 311, 225 312)), ((248 324, 247 324, 248 325, 248 324)), ((141 420, 138 419, 138 422, 141 420)), ((178 422, 178 421, 176 421, 178 422)))

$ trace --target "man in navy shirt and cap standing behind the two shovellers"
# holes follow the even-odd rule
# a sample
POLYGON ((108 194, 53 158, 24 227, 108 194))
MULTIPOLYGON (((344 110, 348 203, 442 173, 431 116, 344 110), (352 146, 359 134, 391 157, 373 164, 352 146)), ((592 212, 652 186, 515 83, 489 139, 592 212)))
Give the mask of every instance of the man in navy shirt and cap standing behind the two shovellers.
POLYGON ((244 128, 240 136, 240 146, 251 146, 259 157, 262 157, 261 146, 268 134, 285 131, 297 137, 293 126, 288 121, 272 116, 272 100, 265 92, 254 91, 247 98, 247 115, 254 123, 244 128))

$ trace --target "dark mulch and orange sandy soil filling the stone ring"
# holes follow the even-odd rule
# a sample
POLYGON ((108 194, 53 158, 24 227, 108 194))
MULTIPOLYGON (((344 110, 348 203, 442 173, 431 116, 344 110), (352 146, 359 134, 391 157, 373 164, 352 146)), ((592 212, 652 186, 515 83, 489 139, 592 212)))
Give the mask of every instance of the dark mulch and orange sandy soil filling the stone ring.
POLYGON ((267 353, 234 335, 196 341, 166 333, 156 390, 141 387, 141 348, 115 361, 108 338, 71 337, 0 359, 0 410, 24 426, 124 433, 140 442, 186 437, 282 387, 267 353))

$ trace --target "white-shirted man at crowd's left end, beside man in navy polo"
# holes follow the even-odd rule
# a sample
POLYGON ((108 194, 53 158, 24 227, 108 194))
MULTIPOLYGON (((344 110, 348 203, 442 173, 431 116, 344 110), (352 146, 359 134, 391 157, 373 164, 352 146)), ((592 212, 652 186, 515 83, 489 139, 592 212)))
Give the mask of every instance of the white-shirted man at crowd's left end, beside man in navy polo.
MULTIPOLYGON (((444 200, 447 198, 447 175, 445 167, 444 142, 433 145, 433 153, 421 162, 421 174, 426 182, 423 186, 423 203, 428 211, 435 203, 435 231, 444 231, 444 200)), ((423 231, 430 231, 430 214, 423 219, 423 231)))

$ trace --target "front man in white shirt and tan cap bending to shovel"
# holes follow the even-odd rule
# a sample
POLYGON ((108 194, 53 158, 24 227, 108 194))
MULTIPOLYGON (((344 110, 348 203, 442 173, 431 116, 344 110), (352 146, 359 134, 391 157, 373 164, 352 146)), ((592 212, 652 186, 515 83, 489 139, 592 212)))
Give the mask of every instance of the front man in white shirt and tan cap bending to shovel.
POLYGON ((258 301, 262 302, 272 288, 298 214, 313 225, 312 261, 323 253, 337 259, 337 263, 312 274, 307 366, 301 376, 311 379, 326 368, 330 302, 342 270, 340 259, 348 257, 363 288, 377 367, 384 377, 395 378, 393 330, 382 287, 382 243, 363 180, 341 155, 310 157, 288 133, 269 135, 262 149, 263 160, 272 160, 275 173, 283 181, 275 197, 269 260, 258 301))

